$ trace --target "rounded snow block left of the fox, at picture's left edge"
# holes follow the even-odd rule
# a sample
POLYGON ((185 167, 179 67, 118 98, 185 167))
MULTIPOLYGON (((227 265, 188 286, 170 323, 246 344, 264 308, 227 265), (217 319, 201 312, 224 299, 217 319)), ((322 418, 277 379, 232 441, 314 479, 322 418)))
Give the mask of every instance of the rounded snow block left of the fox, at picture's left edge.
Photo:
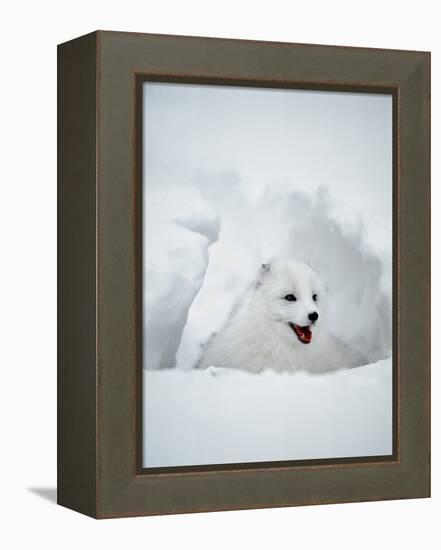
POLYGON ((219 220, 191 187, 148 189, 144 201, 144 367, 175 365, 219 220))

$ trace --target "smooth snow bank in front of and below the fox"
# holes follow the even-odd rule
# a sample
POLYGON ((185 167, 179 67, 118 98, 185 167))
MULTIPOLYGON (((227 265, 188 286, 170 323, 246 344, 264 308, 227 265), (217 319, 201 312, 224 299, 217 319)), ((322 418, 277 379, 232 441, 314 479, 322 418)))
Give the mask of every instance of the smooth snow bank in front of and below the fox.
POLYGON ((149 371, 144 391, 146 467, 392 453, 390 359, 319 376, 149 371))

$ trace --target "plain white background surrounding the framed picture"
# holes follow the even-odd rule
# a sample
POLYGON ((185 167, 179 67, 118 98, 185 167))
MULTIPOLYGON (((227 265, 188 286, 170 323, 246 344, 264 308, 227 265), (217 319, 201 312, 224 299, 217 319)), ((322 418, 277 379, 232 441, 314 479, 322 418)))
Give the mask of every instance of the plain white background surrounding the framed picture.
MULTIPOLYGON (((433 498, 96 522, 53 503, 56 482, 56 48, 97 28, 432 51, 436 3, 7 3, 1 18, 0 545, 3 548, 437 548, 441 512, 439 287, 433 285, 433 498), (44 489, 44 490, 42 490, 44 489)), ((439 155, 433 281, 441 280, 439 155)))

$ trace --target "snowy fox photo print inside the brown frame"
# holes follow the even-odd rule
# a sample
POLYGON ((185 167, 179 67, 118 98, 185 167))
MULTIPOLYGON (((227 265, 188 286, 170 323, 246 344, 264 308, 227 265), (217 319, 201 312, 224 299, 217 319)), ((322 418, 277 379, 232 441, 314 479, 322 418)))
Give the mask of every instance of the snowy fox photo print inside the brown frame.
POLYGON ((143 84, 145 468, 393 453, 393 99, 143 84))

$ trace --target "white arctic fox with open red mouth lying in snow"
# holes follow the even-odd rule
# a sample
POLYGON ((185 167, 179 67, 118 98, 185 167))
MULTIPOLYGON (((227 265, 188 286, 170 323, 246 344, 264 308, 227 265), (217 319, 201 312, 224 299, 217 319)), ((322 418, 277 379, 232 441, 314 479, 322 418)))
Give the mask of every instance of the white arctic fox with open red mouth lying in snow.
POLYGON ((308 264, 263 264, 225 327, 208 342, 198 367, 319 373, 364 364, 363 357, 331 335, 326 294, 308 264))

